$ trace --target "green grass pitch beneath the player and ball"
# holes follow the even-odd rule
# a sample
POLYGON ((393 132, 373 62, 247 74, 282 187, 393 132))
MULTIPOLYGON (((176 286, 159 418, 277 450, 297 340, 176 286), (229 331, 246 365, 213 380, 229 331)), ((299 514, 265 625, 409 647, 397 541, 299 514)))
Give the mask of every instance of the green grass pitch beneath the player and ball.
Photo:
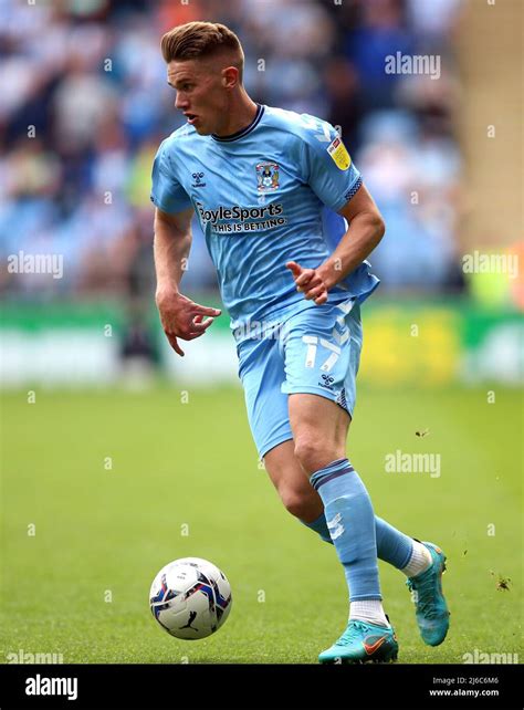
MULTIPOLYGON (((475 649, 522 659, 522 393, 495 388, 489 404, 488 389, 359 390, 348 456, 377 514, 448 554, 451 628, 438 648, 419 638, 405 577, 380 563, 399 662, 460 664, 475 649), (440 453, 441 476, 385 472, 397 449, 440 453)), ((335 552, 259 468, 241 390, 188 396, 3 396, 1 662, 22 649, 74 664, 311 664, 344 629, 335 552), (224 627, 192 643, 148 608, 155 574, 187 555, 233 589, 224 627)))

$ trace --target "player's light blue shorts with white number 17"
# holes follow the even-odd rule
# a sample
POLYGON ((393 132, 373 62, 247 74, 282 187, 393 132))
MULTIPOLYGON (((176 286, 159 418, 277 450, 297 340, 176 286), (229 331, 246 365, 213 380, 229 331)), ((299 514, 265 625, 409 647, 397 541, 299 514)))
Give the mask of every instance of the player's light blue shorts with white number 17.
POLYGON ((248 418, 262 458, 293 438, 287 395, 336 401, 353 417, 363 330, 358 300, 281 316, 237 346, 248 418))

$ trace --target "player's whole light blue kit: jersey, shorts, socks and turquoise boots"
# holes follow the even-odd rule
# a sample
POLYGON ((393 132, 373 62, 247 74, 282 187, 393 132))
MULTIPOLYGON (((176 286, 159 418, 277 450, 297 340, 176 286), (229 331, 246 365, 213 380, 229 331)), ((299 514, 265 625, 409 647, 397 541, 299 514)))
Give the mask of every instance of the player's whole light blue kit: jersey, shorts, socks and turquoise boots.
MULTIPOLYGON (((353 416, 360 303, 378 279, 365 261, 329 291, 327 303, 316 305, 296 291, 285 263, 317 268, 328 258, 346 231, 336 212, 360 186, 360 175, 333 126, 260 105, 253 122, 232 136, 200 136, 186 124, 163 142, 155 158, 153 202, 168 213, 192 207, 206 237, 231 316, 239 375, 261 457, 293 438, 290 394, 319 395, 353 416)), ((319 660, 395 658, 395 634, 384 629, 388 622, 380 605, 377 555, 407 570, 416 554, 413 541, 375 516, 369 494, 347 459, 314 471, 311 484, 324 513, 305 524, 334 544, 352 609, 360 605, 356 618, 350 612, 345 634, 319 660)), ((431 645, 441 643, 448 628, 442 568, 443 563, 433 563, 421 582, 410 581, 422 591, 417 620, 431 645)))

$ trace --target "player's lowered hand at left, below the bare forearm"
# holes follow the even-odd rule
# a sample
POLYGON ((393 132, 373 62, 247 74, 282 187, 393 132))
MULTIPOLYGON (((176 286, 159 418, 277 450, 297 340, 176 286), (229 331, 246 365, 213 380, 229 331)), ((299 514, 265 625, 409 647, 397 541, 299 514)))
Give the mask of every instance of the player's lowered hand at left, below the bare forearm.
POLYGON ((157 293, 156 301, 164 333, 172 349, 182 357, 185 353, 177 338, 193 341, 200 337, 221 313, 218 309, 199 305, 181 293, 157 293), (205 320, 205 316, 209 317, 205 320))

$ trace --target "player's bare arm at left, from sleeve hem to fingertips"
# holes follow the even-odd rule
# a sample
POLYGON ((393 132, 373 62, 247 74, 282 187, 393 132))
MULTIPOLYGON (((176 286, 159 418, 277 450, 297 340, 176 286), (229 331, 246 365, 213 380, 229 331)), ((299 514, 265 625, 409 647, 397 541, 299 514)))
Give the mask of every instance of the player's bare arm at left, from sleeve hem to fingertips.
POLYGON ((192 208, 174 215, 155 211, 156 303, 164 332, 171 347, 184 356, 177 338, 192 341, 220 315, 218 309, 195 303, 180 293, 180 281, 191 248, 192 208), (207 317, 206 320, 205 316, 207 317))

